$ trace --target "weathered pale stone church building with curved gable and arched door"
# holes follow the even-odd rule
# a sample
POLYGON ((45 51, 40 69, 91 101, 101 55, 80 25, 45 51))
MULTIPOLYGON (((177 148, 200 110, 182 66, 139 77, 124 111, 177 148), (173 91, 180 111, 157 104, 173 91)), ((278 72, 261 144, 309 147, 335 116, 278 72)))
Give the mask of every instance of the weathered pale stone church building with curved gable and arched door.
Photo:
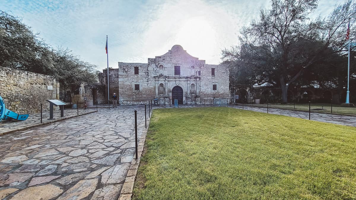
MULTIPOLYGON (((146 99, 159 99, 159 104, 169 104, 172 99, 179 104, 199 104, 203 99, 230 97, 228 65, 205 64, 180 45, 148 58, 148 63, 118 64, 117 69, 109 69, 109 87, 110 96, 118 94, 120 104, 139 104, 146 99)), ((99 73, 101 85, 107 85, 106 79, 104 69, 99 73)))

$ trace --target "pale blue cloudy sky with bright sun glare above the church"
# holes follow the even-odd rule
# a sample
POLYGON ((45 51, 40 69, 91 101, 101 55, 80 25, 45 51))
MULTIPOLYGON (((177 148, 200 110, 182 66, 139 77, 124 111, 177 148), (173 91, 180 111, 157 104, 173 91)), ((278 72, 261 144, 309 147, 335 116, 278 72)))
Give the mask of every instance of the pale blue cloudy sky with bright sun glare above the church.
MULTIPOLYGON (((219 64, 221 49, 237 44, 242 26, 258 17, 269 0, 0 0, 53 47, 69 48, 106 68, 117 62, 147 63, 174 44, 189 54, 219 64)), ((320 0, 314 15, 326 16, 343 0, 320 0)))

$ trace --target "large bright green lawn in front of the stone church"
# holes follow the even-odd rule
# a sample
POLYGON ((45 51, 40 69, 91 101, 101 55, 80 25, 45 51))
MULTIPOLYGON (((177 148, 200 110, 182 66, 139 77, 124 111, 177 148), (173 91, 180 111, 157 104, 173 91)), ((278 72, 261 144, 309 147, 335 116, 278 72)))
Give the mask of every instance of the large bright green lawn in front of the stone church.
POLYGON ((133 199, 356 199, 356 128, 233 108, 155 109, 133 199))

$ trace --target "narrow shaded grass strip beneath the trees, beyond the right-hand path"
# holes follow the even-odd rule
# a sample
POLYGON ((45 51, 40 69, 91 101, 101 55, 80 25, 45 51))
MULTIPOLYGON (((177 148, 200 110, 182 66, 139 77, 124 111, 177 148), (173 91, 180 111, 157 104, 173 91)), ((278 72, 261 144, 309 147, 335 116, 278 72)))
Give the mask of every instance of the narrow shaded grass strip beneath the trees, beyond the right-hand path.
MULTIPOLYGON (((247 104, 250 105, 250 104, 247 104)), ((272 108, 294 109, 294 104, 270 104, 272 108)), ((254 106, 267 107, 267 104, 256 104, 254 106)), ((321 108, 326 110, 318 110, 318 112, 331 112, 331 104, 310 104, 310 109, 321 108)), ((309 110, 309 104, 295 104, 295 110, 309 110)), ((312 110, 313 111, 313 110, 312 110)), ((356 107, 340 107, 338 104, 333 104, 333 113, 356 115, 356 107)))

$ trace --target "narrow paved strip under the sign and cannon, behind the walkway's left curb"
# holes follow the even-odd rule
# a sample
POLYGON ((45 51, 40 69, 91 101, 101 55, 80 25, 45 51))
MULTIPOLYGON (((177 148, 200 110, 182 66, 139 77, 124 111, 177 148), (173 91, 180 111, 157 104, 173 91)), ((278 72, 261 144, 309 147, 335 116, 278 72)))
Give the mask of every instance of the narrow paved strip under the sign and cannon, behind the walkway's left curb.
MULTIPOLYGON (((95 109, 96 110, 96 109, 95 109)), ((79 115, 94 111, 93 109, 79 109, 79 115)), ((64 117, 75 116, 77 115, 77 109, 66 109, 64 110, 64 117)), ((54 119, 61 119, 61 111, 54 110, 53 111, 53 118, 54 119)), ((49 119, 49 111, 42 113, 42 122, 51 121, 49 119)), ((28 127, 32 125, 37 125, 41 123, 41 113, 33 113, 28 116, 27 120, 25 121, 16 121, 16 120, 2 120, 0 122, 0 135, 1 133, 11 131, 17 128, 28 127)))

